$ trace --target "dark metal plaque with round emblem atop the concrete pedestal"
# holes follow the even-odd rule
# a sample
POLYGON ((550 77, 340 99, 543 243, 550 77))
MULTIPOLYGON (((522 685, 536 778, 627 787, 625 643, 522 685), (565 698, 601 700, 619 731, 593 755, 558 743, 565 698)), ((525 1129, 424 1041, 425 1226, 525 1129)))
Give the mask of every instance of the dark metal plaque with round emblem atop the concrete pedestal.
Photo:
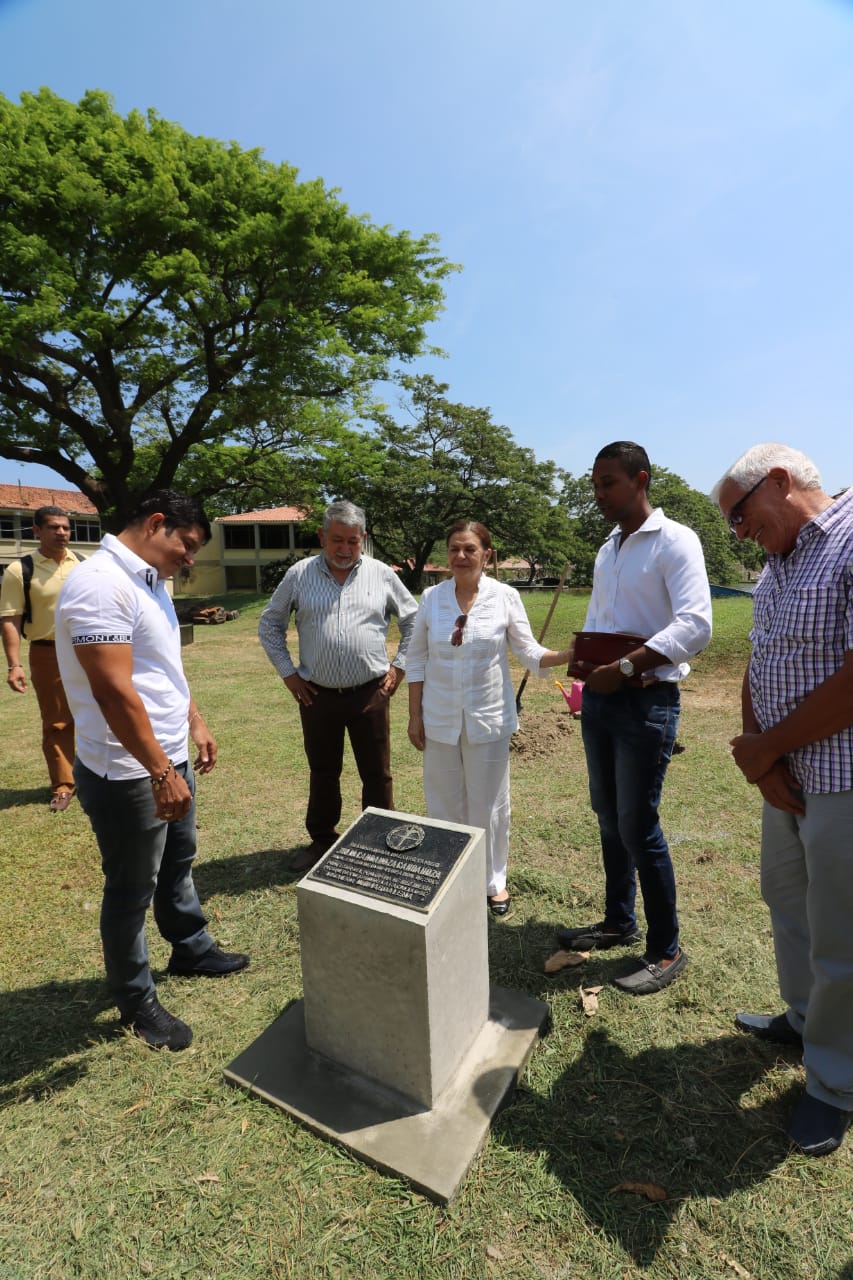
POLYGON ((365 813, 309 879, 425 911, 470 838, 464 831, 365 813))

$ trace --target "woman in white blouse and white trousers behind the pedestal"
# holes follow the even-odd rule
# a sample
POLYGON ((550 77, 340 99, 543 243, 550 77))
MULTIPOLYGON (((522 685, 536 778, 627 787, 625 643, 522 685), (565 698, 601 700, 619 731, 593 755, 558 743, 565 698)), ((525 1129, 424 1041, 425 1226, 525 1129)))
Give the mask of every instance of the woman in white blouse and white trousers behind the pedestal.
POLYGON ((409 740, 424 753, 426 813, 485 831, 485 895, 494 915, 506 915, 510 739, 519 727, 507 649, 537 675, 567 664, 570 650, 537 644, 519 593, 485 575, 491 557, 484 525, 452 525, 452 577, 421 596, 406 681, 409 740))

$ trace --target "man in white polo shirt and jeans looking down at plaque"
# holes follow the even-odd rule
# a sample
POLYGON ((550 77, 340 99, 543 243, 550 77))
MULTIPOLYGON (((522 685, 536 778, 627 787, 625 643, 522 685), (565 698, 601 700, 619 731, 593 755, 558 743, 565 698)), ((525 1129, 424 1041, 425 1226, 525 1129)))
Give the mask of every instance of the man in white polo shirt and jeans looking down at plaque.
POLYGON ((101 851, 101 941, 122 1021, 146 1043, 186 1048, 192 1032, 160 1005, 149 966, 145 916, 172 943, 169 973, 220 977, 248 956, 207 933, 192 879, 193 768, 210 773, 216 744, 190 692, 181 631, 165 589, 210 538, 195 498, 159 490, 108 534, 64 585, 56 657, 77 724, 74 781, 101 851))

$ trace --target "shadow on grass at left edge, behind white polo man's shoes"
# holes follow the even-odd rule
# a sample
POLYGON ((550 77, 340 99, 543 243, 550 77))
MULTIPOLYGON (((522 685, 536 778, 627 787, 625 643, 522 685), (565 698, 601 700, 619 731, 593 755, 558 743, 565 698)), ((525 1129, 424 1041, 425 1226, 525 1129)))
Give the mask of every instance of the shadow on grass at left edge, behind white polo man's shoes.
POLYGON ((74 1055, 102 1038, 104 1028, 95 1023, 111 1005, 105 982, 95 978, 1 992, 0 1106, 22 1093, 64 1089, 83 1076, 86 1057, 74 1055))

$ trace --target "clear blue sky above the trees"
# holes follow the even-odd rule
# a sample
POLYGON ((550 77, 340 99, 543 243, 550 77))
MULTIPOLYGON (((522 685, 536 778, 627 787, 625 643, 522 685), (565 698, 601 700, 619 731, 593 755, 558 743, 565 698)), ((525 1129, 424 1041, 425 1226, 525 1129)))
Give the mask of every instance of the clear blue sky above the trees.
POLYGON ((843 0, 0 0, 6 97, 102 88, 435 232, 452 399, 703 490, 772 439, 853 484, 852 68, 843 0))

